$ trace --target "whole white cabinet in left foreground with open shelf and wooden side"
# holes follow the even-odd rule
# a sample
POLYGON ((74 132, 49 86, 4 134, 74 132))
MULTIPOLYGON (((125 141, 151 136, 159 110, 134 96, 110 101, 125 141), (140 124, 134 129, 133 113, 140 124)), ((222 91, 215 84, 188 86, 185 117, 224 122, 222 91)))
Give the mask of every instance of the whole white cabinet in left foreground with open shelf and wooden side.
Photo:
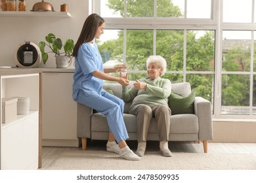
POLYGON ((17 115, 14 120, 5 124, 0 118, 1 169, 37 169, 41 167, 39 71, 39 69, 0 71, 1 103, 3 97, 30 97, 29 114, 17 115))

